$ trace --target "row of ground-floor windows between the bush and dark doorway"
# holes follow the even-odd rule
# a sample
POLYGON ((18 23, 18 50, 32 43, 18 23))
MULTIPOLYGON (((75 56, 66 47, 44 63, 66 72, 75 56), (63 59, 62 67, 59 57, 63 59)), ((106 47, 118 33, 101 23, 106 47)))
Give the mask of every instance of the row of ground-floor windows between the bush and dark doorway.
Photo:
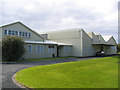
MULTIPOLYGON (((45 47, 44 45, 36 45, 36 53, 44 53, 45 47)), ((27 52, 32 53, 32 45, 27 45, 27 52)), ((48 53, 54 53, 55 48, 49 48, 48 46, 48 53)))

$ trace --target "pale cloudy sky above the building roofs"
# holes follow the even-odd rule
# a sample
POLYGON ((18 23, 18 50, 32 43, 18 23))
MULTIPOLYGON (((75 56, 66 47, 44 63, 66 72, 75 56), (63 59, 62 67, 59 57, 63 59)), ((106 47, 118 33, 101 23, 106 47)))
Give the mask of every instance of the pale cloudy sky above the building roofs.
POLYGON ((119 0, 1 0, 0 24, 21 21, 37 32, 83 28, 118 41, 119 0))

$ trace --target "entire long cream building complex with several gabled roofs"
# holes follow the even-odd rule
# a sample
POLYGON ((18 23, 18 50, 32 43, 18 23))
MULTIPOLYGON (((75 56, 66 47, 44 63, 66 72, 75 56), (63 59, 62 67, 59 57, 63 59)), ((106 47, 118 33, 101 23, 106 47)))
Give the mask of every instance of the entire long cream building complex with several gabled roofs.
POLYGON ((24 59, 51 58, 66 56, 94 56, 103 49, 107 54, 116 54, 116 41, 111 37, 107 42, 93 32, 83 29, 63 30, 38 34, 21 22, 0 27, 0 39, 5 36, 18 36, 25 42, 24 59))

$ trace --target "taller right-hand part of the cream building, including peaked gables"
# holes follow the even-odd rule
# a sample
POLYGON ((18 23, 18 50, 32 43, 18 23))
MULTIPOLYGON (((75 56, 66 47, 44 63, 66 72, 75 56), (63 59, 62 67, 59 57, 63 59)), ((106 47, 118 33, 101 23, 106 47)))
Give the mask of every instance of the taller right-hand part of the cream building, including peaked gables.
POLYGON ((47 35, 48 40, 71 44, 72 56, 95 56, 99 51, 104 51, 106 55, 117 53, 117 43, 113 36, 106 42, 100 34, 86 33, 83 29, 54 31, 47 35))

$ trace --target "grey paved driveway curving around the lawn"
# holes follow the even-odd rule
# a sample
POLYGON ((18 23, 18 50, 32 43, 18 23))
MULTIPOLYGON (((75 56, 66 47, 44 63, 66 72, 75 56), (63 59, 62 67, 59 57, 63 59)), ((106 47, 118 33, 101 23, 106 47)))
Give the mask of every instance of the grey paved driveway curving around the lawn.
POLYGON ((58 59, 58 60, 44 60, 44 61, 25 61, 18 64, 2 64, 2 90, 5 88, 19 88, 16 86, 12 81, 12 76, 17 71, 38 65, 48 65, 48 64, 55 64, 55 63, 63 63, 63 62, 71 62, 71 61, 79 61, 79 60, 86 60, 86 59, 93 59, 97 57, 89 57, 89 58, 67 58, 67 59, 58 59))

